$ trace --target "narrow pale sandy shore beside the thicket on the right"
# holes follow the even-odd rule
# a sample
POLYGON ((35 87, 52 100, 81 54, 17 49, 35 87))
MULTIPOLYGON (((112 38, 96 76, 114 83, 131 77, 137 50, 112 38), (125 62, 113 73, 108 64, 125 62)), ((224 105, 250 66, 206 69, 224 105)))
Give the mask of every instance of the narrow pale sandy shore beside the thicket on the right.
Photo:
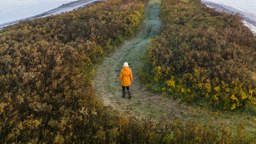
POLYGON ((219 4, 219 3, 213 3, 213 2, 209 2, 209 1, 205 1, 205 0, 201 0, 201 2, 203 4, 205 4, 206 6, 208 6, 210 8, 214 8, 218 11, 225 11, 227 13, 238 14, 239 16, 242 17, 243 23, 246 26, 248 26, 252 30, 252 32, 256 35, 256 15, 253 15, 253 14, 247 13, 247 12, 243 12, 243 11, 237 10, 235 8, 232 8, 230 6, 226 6, 226 5, 219 4))

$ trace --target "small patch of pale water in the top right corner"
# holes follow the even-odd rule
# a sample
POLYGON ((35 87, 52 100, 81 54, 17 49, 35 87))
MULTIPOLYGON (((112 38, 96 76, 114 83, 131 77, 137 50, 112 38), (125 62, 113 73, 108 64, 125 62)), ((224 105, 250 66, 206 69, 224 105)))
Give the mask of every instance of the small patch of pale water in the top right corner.
POLYGON ((207 0, 209 2, 220 3, 231 6, 235 9, 256 15, 256 0, 207 0))

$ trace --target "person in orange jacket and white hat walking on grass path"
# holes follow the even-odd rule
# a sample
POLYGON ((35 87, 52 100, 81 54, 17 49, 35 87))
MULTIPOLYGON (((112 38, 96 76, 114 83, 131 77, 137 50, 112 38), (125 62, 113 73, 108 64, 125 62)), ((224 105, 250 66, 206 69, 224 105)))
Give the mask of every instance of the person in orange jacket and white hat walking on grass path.
POLYGON ((129 86, 132 83, 132 73, 131 69, 129 68, 129 65, 127 62, 124 63, 124 68, 121 70, 120 76, 117 81, 121 80, 121 85, 123 89, 123 98, 125 98, 125 87, 128 91, 128 99, 131 99, 131 90, 129 86), (122 80, 121 80, 122 79, 122 80))

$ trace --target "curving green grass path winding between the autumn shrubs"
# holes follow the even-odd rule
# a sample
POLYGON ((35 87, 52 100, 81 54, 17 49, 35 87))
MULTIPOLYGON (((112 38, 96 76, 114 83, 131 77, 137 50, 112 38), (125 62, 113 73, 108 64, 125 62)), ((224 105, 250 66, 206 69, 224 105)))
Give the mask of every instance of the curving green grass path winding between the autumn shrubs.
POLYGON ((228 126, 236 127, 244 123, 247 127, 247 133, 256 136, 256 121, 253 117, 248 117, 246 113, 233 113, 230 111, 212 111, 197 105, 189 105, 177 100, 163 99, 148 91, 140 83, 138 77, 139 62, 147 46, 149 39, 160 34, 161 21, 159 16, 160 1, 150 0, 145 9, 145 21, 138 35, 126 41, 109 57, 106 57, 102 64, 97 65, 93 86, 97 97, 104 105, 113 107, 123 112, 141 116, 151 116, 155 120, 162 116, 175 120, 195 120, 207 124, 225 122, 228 126), (122 98, 122 88, 120 82, 117 82, 124 62, 128 62, 133 73, 133 83, 130 88, 132 98, 122 98))

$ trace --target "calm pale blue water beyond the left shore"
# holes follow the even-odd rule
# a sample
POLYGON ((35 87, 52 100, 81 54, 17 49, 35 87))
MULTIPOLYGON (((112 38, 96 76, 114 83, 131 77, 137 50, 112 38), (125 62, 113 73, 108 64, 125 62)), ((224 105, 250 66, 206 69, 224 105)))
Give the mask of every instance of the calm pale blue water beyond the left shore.
POLYGON ((0 24, 28 18, 75 0, 0 0, 0 24))

